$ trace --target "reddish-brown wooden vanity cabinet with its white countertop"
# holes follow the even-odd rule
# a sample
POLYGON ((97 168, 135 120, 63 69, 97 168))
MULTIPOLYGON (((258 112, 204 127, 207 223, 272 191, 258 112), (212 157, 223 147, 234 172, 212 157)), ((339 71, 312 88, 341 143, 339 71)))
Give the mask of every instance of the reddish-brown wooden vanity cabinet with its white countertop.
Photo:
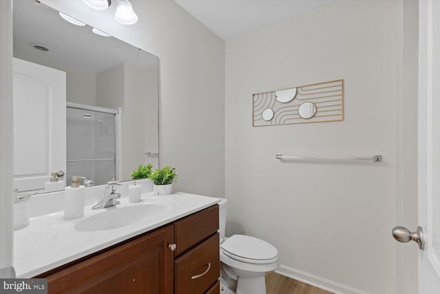
MULTIPOLYGON (((49 247, 40 248, 40 256, 35 257, 34 262, 44 260, 41 255, 46 255, 49 262, 51 259, 54 262, 44 266, 34 264, 36 269, 32 269, 32 272, 37 274, 32 276, 47 278, 48 293, 219 293, 218 199, 177 193, 161 196, 159 200, 143 198, 142 202, 148 204, 168 200, 174 203, 173 209, 166 212, 167 216, 155 218, 155 221, 145 220, 102 231, 78 231, 75 228, 81 222, 109 211, 91 212, 83 220, 71 221, 61 220, 54 213, 53 216, 31 220, 30 227, 16 231, 16 239, 25 235, 26 230, 28 233, 36 233, 42 222, 50 221, 44 218, 51 217, 65 225, 65 235, 58 231, 44 238, 45 241, 37 238, 35 245, 48 244, 51 239, 53 243, 63 238, 73 240, 71 235, 83 235, 72 246, 82 246, 79 250, 83 256, 75 251, 66 252, 68 257, 56 261, 56 255, 60 254, 56 244, 53 244, 54 251, 49 247), (144 229, 138 230, 140 226, 144 229), (67 227, 74 230, 69 231, 67 227), (109 241, 109 231, 113 231, 113 240, 117 241, 109 241), (120 240, 121 234, 125 235, 126 238, 122 237, 124 240, 120 240), (100 247, 96 246, 98 243, 104 243, 101 245, 104 248, 95 251, 93 248, 100 247)), ((134 207, 136 204, 127 202, 121 205, 113 211, 134 207)), ((65 248, 71 245, 67 244, 65 248)), ((37 249, 32 251, 36 253, 37 249)), ((24 254, 30 256, 19 249, 17 259, 23 258, 24 254)), ((19 262, 19 273, 20 265, 19 262)))

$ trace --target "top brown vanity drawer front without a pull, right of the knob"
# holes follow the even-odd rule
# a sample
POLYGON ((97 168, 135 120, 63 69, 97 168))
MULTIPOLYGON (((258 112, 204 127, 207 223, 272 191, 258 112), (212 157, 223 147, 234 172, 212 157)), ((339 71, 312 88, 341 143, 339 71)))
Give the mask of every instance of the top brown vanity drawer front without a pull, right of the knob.
POLYGON ((214 205, 175 222, 174 241, 178 257, 219 229, 219 205, 214 205))

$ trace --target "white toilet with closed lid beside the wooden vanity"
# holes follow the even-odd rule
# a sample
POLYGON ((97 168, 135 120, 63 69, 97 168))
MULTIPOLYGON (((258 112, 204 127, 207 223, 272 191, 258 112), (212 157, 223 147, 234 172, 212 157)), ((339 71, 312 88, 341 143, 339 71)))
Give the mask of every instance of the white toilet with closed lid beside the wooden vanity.
POLYGON ((225 238, 227 204, 219 203, 220 293, 266 294, 265 273, 278 267, 278 250, 248 235, 225 238))

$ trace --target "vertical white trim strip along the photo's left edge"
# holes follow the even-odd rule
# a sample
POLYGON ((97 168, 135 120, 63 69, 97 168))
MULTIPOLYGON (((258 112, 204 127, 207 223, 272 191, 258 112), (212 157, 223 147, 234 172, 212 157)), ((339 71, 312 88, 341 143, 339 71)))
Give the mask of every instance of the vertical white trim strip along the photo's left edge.
POLYGON ((12 114, 12 1, 9 0, 0 1, 0 271, 13 265, 14 256, 12 114))

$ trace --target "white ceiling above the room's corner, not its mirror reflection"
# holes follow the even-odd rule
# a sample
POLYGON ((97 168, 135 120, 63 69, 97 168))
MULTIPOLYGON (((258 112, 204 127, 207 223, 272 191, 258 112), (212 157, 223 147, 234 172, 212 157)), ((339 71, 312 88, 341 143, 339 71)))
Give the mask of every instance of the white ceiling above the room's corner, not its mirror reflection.
POLYGON ((265 28, 337 0, 175 0, 223 40, 265 28))

